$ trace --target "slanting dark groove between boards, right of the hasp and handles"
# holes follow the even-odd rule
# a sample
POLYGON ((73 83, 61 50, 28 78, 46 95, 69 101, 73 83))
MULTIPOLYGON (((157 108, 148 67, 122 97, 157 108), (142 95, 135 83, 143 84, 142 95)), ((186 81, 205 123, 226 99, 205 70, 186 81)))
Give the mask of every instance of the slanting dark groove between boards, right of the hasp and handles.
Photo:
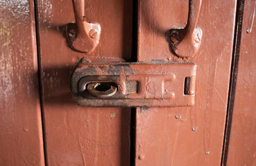
POLYGON ((230 72, 230 89, 228 95, 228 108, 226 114, 226 124, 225 124, 225 135, 223 140, 223 151, 221 157, 221 165, 227 165, 228 159, 228 145, 230 142, 230 132, 232 127, 232 115, 234 109, 234 98, 236 93, 236 84, 237 84, 237 70, 239 62, 239 53, 240 53, 240 44, 241 44, 241 30, 244 14, 244 0, 237 1, 237 12, 235 20, 235 29, 234 29, 234 45, 232 52, 232 64, 230 72))

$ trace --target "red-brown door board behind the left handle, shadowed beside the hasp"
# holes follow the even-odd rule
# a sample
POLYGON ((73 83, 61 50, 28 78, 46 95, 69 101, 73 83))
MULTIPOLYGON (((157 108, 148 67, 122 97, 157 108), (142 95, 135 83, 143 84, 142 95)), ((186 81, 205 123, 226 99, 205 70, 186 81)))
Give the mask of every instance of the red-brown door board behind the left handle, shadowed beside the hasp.
POLYGON ((67 46, 63 27, 74 21, 71 1, 38 0, 40 69, 49 165, 129 165, 130 109, 78 107, 69 82, 76 62, 130 61, 132 1, 85 1, 85 17, 101 24, 90 55, 67 46))

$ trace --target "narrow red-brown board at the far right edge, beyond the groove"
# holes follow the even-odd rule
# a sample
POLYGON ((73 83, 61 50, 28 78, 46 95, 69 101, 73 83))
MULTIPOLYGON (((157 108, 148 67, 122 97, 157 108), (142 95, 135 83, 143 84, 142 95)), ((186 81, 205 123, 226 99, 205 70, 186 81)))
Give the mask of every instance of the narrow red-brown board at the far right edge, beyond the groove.
POLYGON ((227 165, 256 165, 255 1, 245 1, 227 165))

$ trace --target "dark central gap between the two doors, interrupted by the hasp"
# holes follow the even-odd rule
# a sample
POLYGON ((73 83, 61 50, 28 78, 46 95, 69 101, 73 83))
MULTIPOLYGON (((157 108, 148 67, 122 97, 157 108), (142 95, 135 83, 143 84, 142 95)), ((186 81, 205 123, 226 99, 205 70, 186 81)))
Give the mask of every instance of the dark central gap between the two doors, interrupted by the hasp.
MULTIPOLYGON (((137 62, 137 44, 138 44, 138 0, 133 0, 133 45, 132 62, 137 62)), ((130 113, 130 165, 135 166, 136 157, 136 108, 131 108, 130 113)))

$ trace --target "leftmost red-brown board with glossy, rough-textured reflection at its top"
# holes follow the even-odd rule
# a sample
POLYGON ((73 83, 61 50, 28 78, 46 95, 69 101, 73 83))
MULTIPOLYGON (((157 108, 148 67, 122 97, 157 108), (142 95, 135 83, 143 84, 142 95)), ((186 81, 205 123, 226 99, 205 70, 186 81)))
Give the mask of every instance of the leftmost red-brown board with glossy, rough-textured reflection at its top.
POLYGON ((0 165, 44 165, 34 4, 0 8, 0 165))

